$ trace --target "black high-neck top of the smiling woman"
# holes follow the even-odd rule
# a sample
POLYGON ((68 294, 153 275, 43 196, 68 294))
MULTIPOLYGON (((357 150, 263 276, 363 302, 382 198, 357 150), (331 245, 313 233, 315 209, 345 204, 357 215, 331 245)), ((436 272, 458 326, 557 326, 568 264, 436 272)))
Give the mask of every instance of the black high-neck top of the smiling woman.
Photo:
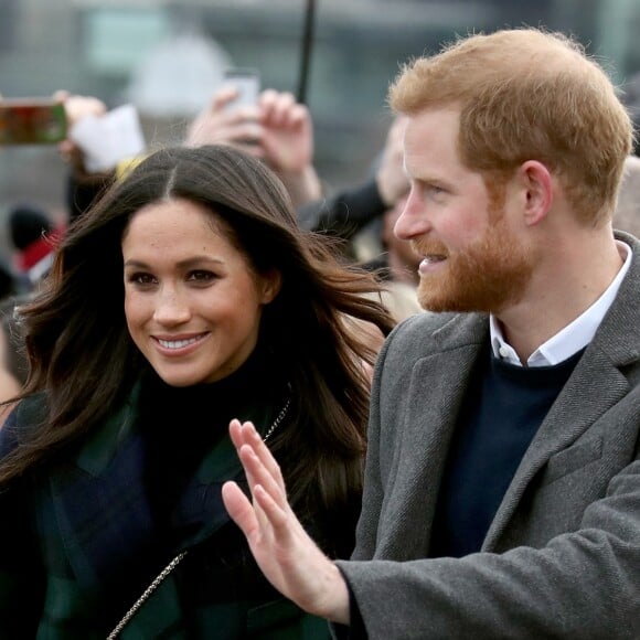
POLYGON ((262 349, 215 383, 174 387, 154 372, 145 376, 140 394, 145 481, 159 534, 170 545, 188 533, 171 531, 171 514, 205 455, 228 437, 233 418, 253 419, 266 433, 287 399, 286 380, 278 360, 262 349))

